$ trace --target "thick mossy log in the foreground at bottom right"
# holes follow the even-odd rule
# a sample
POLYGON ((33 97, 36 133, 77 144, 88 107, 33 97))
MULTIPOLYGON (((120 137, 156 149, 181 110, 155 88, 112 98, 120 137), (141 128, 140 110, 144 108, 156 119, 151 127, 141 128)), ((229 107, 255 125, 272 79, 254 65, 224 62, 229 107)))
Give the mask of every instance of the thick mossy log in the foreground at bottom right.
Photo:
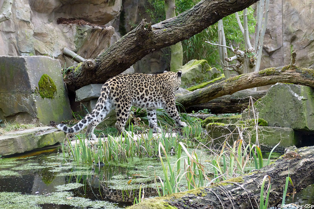
MULTIPOLYGON (((261 185, 265 175, 271 179, 268 203, 273 207, 282 201, 283 187, 288 174, 296 192, 314 183, 313 146, 290 149, 270 165, 248 175, 209 187, 146 200, 129 208, 259 208, 261 185)), ((267 183, 264 196, 266 189, 267 183)), ((293 192, 290 184, 287 192, 293 192)))

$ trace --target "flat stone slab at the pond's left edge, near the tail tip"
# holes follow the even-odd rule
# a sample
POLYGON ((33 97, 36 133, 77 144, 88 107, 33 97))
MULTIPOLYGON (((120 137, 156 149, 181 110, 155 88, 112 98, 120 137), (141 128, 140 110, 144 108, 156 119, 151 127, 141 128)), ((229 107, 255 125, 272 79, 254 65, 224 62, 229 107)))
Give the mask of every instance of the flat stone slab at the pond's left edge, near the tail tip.
POLYGON ((63 142, 65 133, 53 127, 36 127, 0 136, 0 155, 18 154, 63 142))

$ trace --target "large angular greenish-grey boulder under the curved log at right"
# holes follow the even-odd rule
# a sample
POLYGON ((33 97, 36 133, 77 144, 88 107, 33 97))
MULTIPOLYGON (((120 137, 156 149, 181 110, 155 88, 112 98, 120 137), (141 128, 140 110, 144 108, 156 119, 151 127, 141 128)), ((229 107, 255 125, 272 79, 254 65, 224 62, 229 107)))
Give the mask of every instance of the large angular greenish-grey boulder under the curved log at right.
MULTIPOLYGON (((314 130, 314 89, 288 83, 277 83, 255 103, 259 118, 272 127, 314 130)), ((251 114, 252 116, 252 114, 251 114)), ((248 117, 248 111, 242 113, 248 117)))

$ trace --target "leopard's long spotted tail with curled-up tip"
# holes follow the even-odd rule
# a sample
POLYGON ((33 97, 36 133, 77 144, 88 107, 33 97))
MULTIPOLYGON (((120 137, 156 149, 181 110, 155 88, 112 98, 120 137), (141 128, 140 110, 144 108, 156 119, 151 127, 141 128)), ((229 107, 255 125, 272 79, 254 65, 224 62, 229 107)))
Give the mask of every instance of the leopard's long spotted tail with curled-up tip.
POLYGON ((96 103, 95 109, 87 114, 82 120, 80 120, 74 126, 67 127, 65 124, 60 123, 57 125, 57 128, 64 131, 65 133, 76 133, 83 128, 85 128, 89 123, 93 123, 97 121, 98 123, 104 118, 107 113, 110 111, 110 104, 109 104, 109 88, 104 84, 100 91, 101 95, 98 98, 96 103))

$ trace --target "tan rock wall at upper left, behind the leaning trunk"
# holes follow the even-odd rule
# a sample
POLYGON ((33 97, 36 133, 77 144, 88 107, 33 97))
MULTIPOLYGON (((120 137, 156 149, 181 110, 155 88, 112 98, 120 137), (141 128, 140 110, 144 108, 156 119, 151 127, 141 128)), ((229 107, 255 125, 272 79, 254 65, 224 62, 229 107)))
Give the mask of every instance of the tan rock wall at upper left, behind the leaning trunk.
POLYGON ((122 0, 14 0, 12 15, 0 25, 0 55, 47 55, 61 65, 67 47, 84 58, 95 58, 118 36, 109 21, 120 14, 122 0), (98 26, 57 24, 57 18, 84 19, 98 26))

